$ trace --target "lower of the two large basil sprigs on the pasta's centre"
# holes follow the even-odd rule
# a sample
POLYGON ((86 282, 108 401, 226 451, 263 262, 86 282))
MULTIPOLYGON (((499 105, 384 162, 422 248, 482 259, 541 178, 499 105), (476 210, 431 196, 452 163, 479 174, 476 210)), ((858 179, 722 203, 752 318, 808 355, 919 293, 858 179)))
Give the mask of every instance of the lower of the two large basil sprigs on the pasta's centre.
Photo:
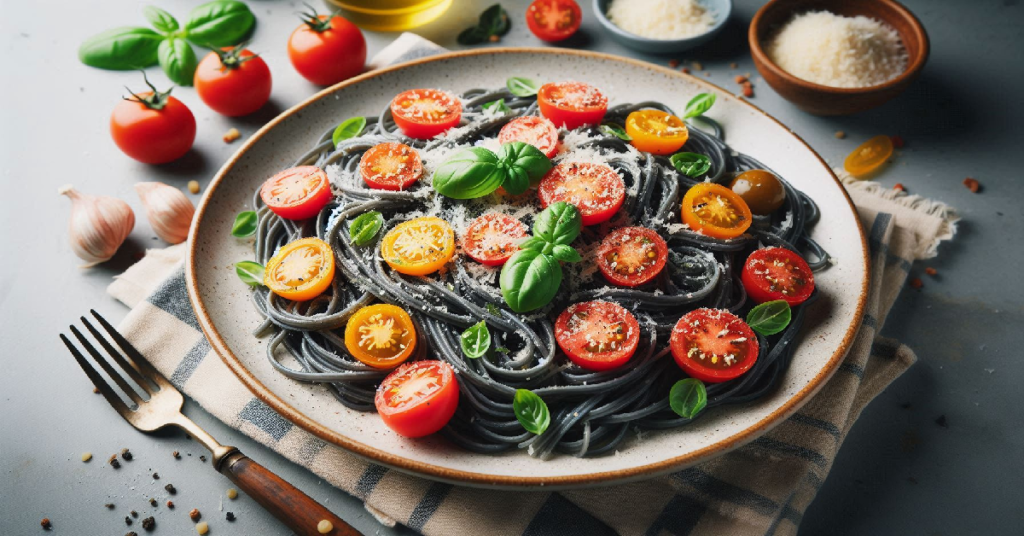
POLYGON ((502 296, 516 313, 547 305, 562 284, 559 261, 578 262, 580 253, 569 246, 583 224, 580 211, 565 202, 554 203, 538 214, 534 236, 519 244, 499 278, 502 296))

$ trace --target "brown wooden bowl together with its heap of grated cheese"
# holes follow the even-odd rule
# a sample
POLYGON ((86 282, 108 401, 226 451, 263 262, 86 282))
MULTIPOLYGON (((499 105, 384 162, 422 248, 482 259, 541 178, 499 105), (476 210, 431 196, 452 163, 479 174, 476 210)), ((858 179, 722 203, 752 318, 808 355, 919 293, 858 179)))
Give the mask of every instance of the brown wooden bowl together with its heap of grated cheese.
POLYGON ((893 0, 772 0, 754 15, 748 39, 768 85, 820 116, 890 100, 929 53, 924 26, 893 0))

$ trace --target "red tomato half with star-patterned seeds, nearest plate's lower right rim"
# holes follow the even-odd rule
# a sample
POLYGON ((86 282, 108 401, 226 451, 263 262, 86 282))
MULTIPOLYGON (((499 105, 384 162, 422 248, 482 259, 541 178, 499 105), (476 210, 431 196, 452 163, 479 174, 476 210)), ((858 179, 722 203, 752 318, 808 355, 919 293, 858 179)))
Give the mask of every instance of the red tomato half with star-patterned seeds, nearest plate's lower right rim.
POLYGON ((669 341, 676 364, 708 383, 739 377, 758 360, 758 337, 739 317, 720 308, 698 308, 679 319, 669 341))

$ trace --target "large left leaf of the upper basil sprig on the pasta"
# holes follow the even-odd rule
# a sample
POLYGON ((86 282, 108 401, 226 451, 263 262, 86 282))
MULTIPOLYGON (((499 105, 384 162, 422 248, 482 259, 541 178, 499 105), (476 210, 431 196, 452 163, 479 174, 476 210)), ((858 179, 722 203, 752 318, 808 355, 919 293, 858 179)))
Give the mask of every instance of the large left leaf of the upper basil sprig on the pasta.
POLYGON ((505 181, 498 155, 482 147, 465 149, 434 171, 437 193, 453 199, 476 199, 493 193, 505 181))

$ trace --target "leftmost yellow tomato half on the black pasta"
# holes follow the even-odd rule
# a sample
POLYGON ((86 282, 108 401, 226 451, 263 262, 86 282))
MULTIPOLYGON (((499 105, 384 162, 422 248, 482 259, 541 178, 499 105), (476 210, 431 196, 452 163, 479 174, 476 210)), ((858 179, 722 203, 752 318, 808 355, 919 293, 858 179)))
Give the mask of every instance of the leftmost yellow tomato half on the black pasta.
POLYGON ((334 252, 318 238, 285 244, 270 257, 263 284, 274 294, 293 301, 308 301, 324 293, 334 280, 334 252))

